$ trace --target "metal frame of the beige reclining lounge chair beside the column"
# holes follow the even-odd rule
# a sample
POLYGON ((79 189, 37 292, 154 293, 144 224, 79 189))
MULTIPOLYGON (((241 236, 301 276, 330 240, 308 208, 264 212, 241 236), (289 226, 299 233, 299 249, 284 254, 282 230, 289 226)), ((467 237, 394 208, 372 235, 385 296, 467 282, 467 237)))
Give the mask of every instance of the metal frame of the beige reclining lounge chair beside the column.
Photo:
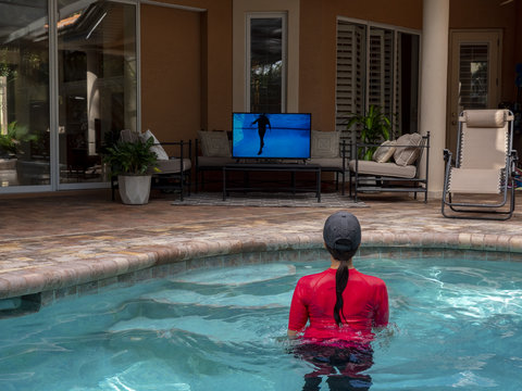
MULTIPOLYGON (((492 115, 496 110, 492 111, 492 115)), ((448 218, 469 218, 469 219, 494 219, 494 220, 507 220, 511 218, 514 211, 515 197, 514 197, 514 180, 513 175, 517 168, 518 154, 512 149, 513 142, 513 113, 509 110, 504 111, 504 121, 508 123, 507 127, 507 150, 506 150, 506 166, 504 169, 504 180, 499 188, 499 194, 501 200, 496 203, 481 203, 481 202, 453 202, 453 197, 450 191, 450 172, 451 168, 460 168, 462 161, 462 126, 467 122, 467 111, 463 111, 459 115, 459 127, 457 135, 457 156, 455 162, 452 160, 452 153, 448 149, 444 150, 444 160, 446 163, 444 188, 442 199, 442 213, 448 218), (509 202, 509 204, 508 204, 509 202), (506 204, 508 207, 506 209, 506 204), (447 209, 449 207, 453 213, 449 214, 447 209), (502 209, 504 207, 504 209, 502 209), (473 215, 472 215, 473 214, 473 215)), ((476 194, 485 194, 481 192, 473 192, 476 194)))

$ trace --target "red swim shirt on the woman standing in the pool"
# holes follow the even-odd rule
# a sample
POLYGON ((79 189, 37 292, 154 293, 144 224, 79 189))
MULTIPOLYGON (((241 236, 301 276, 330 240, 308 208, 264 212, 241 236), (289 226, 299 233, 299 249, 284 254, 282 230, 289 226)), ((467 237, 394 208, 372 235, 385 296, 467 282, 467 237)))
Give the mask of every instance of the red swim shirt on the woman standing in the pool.
POLYGON ((373 338, 372 327, 388 324, 386 285, 377 277, 350 269, 343 292, 346 320, 341 316, 343 325, 337 327, 334 319, 336 272, 328 268, 299 279, 291 299, 288 329, 301 331, 310 319, 304 339, 369 342, 373 338))

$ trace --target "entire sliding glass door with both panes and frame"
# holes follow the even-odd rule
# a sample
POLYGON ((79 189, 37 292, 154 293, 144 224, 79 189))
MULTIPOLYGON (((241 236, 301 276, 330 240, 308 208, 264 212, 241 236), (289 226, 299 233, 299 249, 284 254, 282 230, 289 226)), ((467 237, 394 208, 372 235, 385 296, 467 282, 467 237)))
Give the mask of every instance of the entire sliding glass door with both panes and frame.
POLYGON ((136 129, 136 3, 0 1, 0 193, 100 187, 136 129))

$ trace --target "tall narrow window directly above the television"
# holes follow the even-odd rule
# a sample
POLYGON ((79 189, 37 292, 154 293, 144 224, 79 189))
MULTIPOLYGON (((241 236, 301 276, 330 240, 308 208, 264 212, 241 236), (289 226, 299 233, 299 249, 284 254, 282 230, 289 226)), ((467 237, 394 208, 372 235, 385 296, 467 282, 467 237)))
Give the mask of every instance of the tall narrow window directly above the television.
POLYGON ((249 14, 247 31, 247 108, 285 112, 286 14, 249 14))

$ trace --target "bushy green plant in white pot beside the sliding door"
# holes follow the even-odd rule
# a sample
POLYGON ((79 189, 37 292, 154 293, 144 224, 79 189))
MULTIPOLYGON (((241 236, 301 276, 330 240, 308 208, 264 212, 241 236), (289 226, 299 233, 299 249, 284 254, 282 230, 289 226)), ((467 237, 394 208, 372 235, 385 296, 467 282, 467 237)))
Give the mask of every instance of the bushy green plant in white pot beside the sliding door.
POLYGON ((117 187, 122 202, 142 205, 149 202, 151 175, 149 168, 154 166, 158 156, 151 150, 154 139, 147 141, 117 141, 104 151, 103 161, 111 167, 112 175, 117 176, 117 187))

